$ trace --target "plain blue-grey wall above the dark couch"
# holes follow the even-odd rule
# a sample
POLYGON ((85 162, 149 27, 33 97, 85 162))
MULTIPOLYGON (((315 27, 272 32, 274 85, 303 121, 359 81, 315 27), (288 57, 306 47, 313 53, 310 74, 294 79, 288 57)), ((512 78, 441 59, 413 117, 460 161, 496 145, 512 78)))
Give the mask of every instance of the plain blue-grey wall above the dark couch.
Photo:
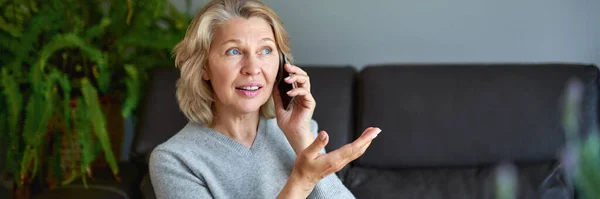
MULTIPOLYGON (((172 0, 185 10, 185 0, 172 0)), ((194 1, 192 14, 204 5, 194 1)), ((578 62, 600 66, 600 0, 265 0, 297 64, 578 62)))

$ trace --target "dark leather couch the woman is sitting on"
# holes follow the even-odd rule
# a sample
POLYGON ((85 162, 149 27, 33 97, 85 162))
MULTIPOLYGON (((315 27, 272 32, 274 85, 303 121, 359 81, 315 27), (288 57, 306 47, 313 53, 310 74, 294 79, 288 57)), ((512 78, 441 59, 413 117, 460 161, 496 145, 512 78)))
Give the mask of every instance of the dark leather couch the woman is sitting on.
MULTIPOLYGON (((518 198, 560 196, 542 184, 564 144, 561 97, 569 78, 585 85, 582 126, 598 122, 598 68, 584 64, 300 65, 311 77, 314 119, 330 134, 326 149, 382 133, 337 175, 357 198, 495 198, 495 172, 514 163, 518 198)), ((122 172, 131 198, 154 198, 149 152, 187 122, 175 98, 173 68, 146 85, 131 161, 122 172), (124 177, 125 178, 125 177, 124 177)), ((557 197, 558 198, 558 197, 557 197)))

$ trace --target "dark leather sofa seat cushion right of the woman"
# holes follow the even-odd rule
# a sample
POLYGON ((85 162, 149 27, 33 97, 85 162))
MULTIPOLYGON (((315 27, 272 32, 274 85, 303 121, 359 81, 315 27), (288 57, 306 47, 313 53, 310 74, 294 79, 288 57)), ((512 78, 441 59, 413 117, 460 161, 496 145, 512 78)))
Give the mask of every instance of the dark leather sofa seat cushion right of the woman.
MULTIPOLYGON (((353 167, 345 180, 356 198, 495 198, 494 166, 380 170, 353 167)), ((518 167, 518 198, 541 198, 553 164, 518 167)))

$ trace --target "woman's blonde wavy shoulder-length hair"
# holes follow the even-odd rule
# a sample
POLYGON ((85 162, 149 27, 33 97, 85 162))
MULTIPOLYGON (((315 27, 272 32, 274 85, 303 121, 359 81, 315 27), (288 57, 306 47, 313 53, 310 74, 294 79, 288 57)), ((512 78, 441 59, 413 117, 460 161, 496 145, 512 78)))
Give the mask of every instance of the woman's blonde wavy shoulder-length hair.
MULTIPOLYGON (((185 37, 173 50, 175 66, 181 73, 177 80, 179 108, 192 122, 213 125, 214 93, 210 82, 202 79, 202 74, 208 65, 215 29, 238 17, 260 17, 267 21, 273 30, 278 51, 293 63, 288 33, 281 19, 265 3, 259 0, 210 1, 194 17, 185 37)), ((273 97, 260 107, 260 114, 266 118, 275 117, 273 97)))

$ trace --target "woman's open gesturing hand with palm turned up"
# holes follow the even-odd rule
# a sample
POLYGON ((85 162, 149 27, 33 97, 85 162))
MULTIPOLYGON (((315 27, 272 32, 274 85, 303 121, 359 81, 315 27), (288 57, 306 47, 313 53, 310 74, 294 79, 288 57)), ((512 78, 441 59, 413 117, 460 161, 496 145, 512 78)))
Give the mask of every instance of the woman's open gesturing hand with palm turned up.
POLYGON ((293 190, 301 191, 302 197, 306 198, 305 196, 310 194, 317 182, 341 170, 348 163, 364 154, 371 141, 380 132, 381 129, 379 128, 369 127, 354 142, 346 144, 335 151, 322 154, 320 151, 329 142, 329 136, 325 131, 321 131, 315 141, 296 157, 286 187, 294 186, 293 190))

